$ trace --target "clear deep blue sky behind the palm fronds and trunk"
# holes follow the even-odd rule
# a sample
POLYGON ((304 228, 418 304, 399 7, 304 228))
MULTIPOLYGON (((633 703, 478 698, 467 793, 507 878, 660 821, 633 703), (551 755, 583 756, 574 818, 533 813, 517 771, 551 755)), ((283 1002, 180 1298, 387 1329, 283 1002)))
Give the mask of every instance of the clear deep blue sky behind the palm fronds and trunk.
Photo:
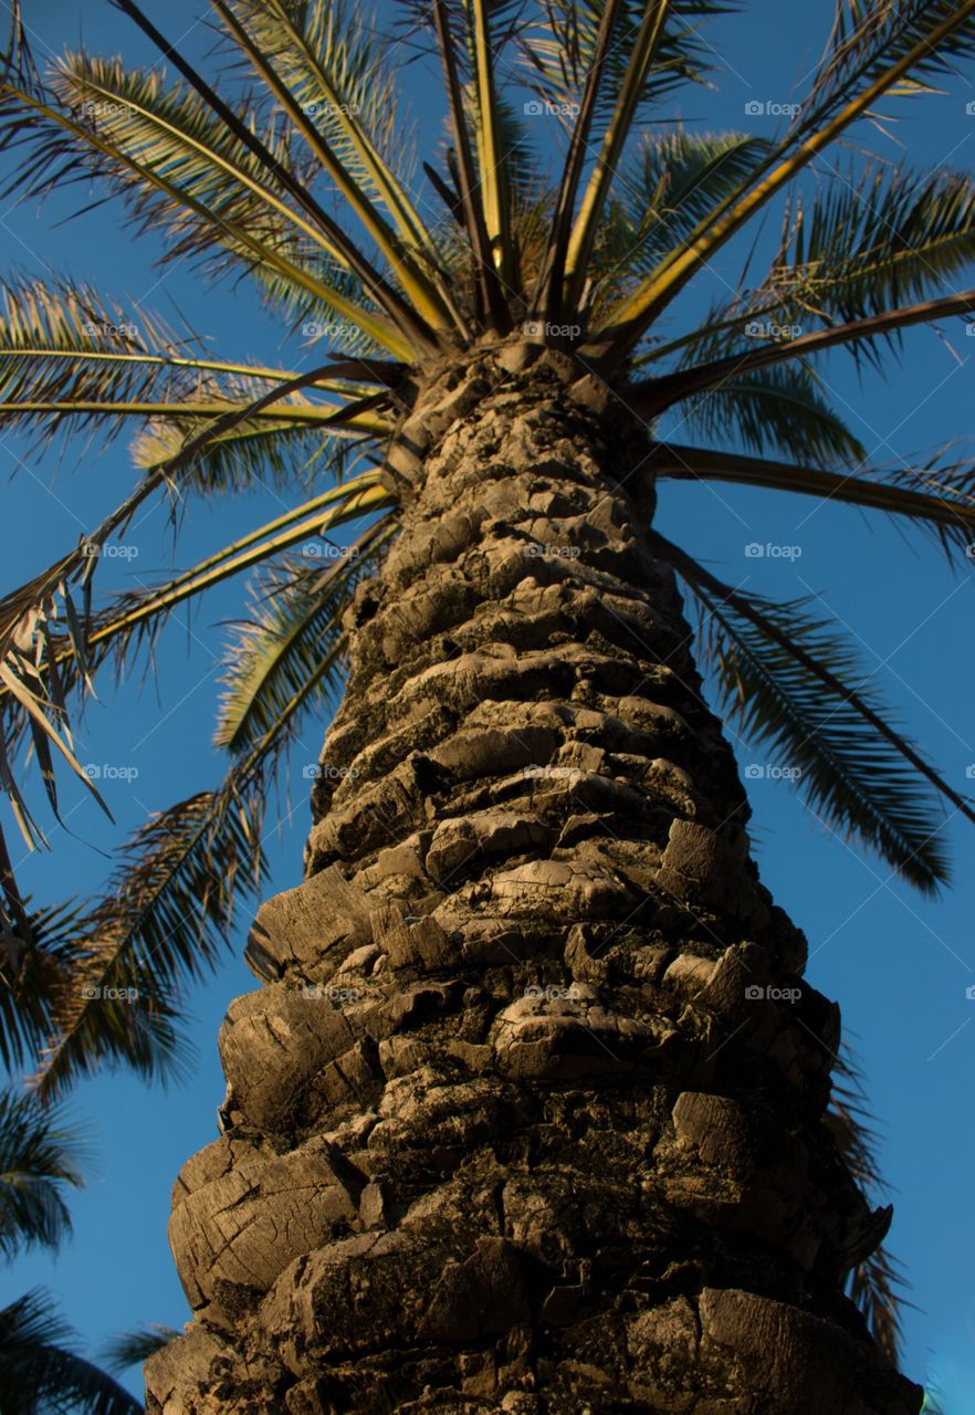
MULTIPOLYGON (((191 55, 205 54, 209 37, 200 23, 201 0, 164 6, 150 0, 147 8, 173 38, 184 38, 191 55)), ((25 10, 38 58, 83 34, 95 51, 120 51, 137 62, 154 59, 129 21, 102 0, 27 0, 25 10)), ((771 133, 778 119, 750 113, 747 105, 795 100, 831 14, 831 0, 805 6, 760 0, 742 16, 722 18, 708 31, 713 88, 685 91, 661 117, 681 117, 702 130, 771 133)), ((406 85, 426 156, 439 137, 437 72, 417 62, 406 85)), ((967 103, 975 99, 975 71, 952 75, 942 86, 942 95, 889 105, 897 115, 889 136, 865 126, 855 144, 890 161, 903 157, 921 173, 950 167, 971 174, 975 113, 967 113, 967 103)), ((539 129, 539 140, 548 143, 550 133, 539 129)), ((853 146, 822 164, 818 181, 843 181, 848 160, 856 160, 853 146)), ((1 158, 0 167, 8 170, 1 158)), ((136 239, 122 225, 117 204, 69 225, 57 224, 85 201, 82 188, 72 200, 42 207, 4 201, 0 270, 69 273, 116 296, 123 307, 140 304, 173 321, 185 316, 214 355, 311 366, 311 351, 260 310, 248 286, 207 287, 185 265, 153 269, 157 236, 136 239)), ((773 221, 763 235, 766 245, 775 233, 773 221)), ((742 258, 736 250, 702 277, 685 306, 688 320, 737 280, 742 258)), ((975 340, 954 321, 940 333, 911 331, 886 383, 872 374, 860 379, 849 357, 831 358, 824 371, 835 403, 872 457, 890 464, 917 458, 947 439, 971 436, 972 355, 975 340)), ((11 478, 4 524, 14 532, 4 545, 4 589, 74 545, 125 495, 133 477, 125 437, 108 450, 72 444, 58 464, 55 456, 34 456, 6 432, 0 434, 0 474, 11 478)), ((197 509, 174 559, 166 512, 156 508, 127 536, 137 555, 103 566, 103 587, 151 583, 173 563, 191 565, 290 504, 287 495, 266 491, 197 509)), ((971 790, 965 774, 975 764, 971 562, 959 556, 950 566, 927 541, 906 538, 886 519, 811 498, 787 501, 732 487, 668 484, 658 525, 733 584, 783 599, 819 596, 824 611, 833 613, 858 641, 865 669, 897 706, 903 726, 958 790, 971 790), (744 555, 751 542, 794 545, 801 553, 751 559, 744 555)), ((24 883, 38 897, 61 900, 96 890, 110 866, 106 852, 149 811, 219 780, 222 764, 209 736, 219 693, 221 624, 242 613, 239 584, 222 587, 188 617, 177 613, 157 648, 158 693, 140 692, 134 678, 99 685, 99 700, 89 706, 82 729, 83 760, 126 768, 109 791, 117 826, 67 788, 71 833, 55 831, 52 853, 24 863, 24 883)), ((300 877, 310 821, 301 766, 316 760, 324 726, 311 729, 296 749, 290 805, 280 832, 267 842, 273 870, 267 893, 300 877)), ((742 744, 736 750, 743 767, 767 763, 766 753, 742 744)), ((925 900, 877 859, 825 831, 787 782, 753 780, 750 795, 763 879, 805 930, 809 978, 839 999, 846 1036, 866 1071, 882 1167, 896 1204, 890 1247, 911 1279, 916 1303, 906 1312, 906 1370, 918 1380, 933 1373, 945 1391, 948 1415, 959 1415, 975 1390, 975 1213, 969 1197, 975 1000, 965 995, 975 983, 975 835, 958 818, 947 822, 955 884, 942 897, 925 900)), ((253 986, 241 962, 246 923, 242 916, 218 975, 187 999, 197 1047, 187 1084, 164 1091, 119 1074, 76 1090, 71 1109, 91 1135, 96 1160, 86 1190, 72 1201, 75 1238, 57 1259, 31 1255, 0 1272, 0 1302, 35 1283, 50 1285, 92 1348, 140 1322, 180 1326, 188 1317, 166 1241, 168 1194, 185 1157, 217 1135, 215 1111, 224 1094, 217 1030, 228 1002, 253 986)), ((129 1384, 140 1390, 136 1371, 129 1384)))

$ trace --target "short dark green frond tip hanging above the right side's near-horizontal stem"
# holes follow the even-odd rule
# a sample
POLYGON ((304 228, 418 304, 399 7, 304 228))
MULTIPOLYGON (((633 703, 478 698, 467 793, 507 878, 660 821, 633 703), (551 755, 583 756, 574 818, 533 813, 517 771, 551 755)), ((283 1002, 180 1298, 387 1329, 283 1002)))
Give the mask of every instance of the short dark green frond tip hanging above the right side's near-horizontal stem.
POLYGON ((824 396, 802 364, 729 378, 678 408, 681 434, 733 440, 754 453, 788 453, 812 466, 860 466, 866 447, 824 396))

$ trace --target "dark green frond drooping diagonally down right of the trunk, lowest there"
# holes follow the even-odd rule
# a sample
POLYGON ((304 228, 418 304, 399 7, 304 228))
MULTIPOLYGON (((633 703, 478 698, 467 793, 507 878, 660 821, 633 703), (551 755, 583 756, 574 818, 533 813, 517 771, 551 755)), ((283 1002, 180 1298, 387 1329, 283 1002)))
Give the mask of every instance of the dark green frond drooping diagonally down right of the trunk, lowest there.
POLYGON ((948 863, 928 784, 969 818, 975 812, 890 726, 849 641, 808 601, 746 599, 662 536, 651 532, 651 541, 700 604, 703 665, 727 720, 798 773, 802 798, 829 829, 933 893, 948 863))

